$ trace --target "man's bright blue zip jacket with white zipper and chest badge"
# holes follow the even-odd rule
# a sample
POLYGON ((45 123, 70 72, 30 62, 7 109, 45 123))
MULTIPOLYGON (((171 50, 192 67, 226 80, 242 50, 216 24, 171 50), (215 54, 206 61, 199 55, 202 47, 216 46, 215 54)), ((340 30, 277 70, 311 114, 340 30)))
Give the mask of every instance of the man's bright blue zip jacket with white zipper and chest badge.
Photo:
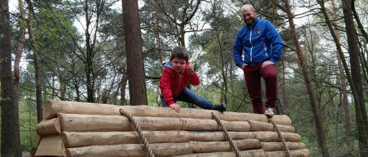
POLYGON ((268 60, 276 63, 282 56, 283 47, 275 26, 268 20, 256 18, 252 25, 245 24, 239 29, 233 45, 233 58, 238 67, 243 63, 250 66, 268 60))

